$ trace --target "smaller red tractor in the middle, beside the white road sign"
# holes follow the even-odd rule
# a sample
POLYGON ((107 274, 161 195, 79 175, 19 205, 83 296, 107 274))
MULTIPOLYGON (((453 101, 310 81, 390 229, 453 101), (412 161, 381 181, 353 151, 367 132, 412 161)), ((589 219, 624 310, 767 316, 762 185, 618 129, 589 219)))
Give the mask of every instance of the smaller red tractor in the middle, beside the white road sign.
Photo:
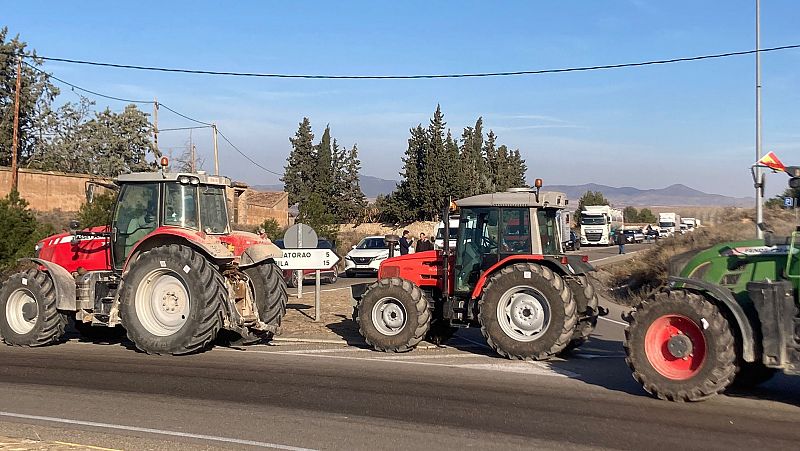
MULTIPOLYGON (((375 349, 440 344, 459 327, 480 327, 499 354, 541 360, 580 346, 607 313, 586 256, 565 255, 562 193, 511 189, 456 201, 455 249, 391 257, 378 281, 352 288, 359 331, 375 349)), ((443 217, 447 217, 447 211, 443 217)), ((445 221, 444 236, 449 236, 445 221)))

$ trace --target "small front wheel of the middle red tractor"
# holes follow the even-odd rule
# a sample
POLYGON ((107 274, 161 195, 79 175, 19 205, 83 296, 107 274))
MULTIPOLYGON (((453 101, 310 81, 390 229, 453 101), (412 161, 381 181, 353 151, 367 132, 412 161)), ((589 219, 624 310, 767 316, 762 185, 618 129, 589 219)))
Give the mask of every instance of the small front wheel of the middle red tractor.
POLYGON ((392 277, 370 285, 358 303, 356 320, 359 333, 376 350, 406 352, 414 349, 428 333, 431 314, 418 286, 392 277), (398 320, 394 329, 384 321, 384 318, 397 319, 400 314, 402 321, 398 320))

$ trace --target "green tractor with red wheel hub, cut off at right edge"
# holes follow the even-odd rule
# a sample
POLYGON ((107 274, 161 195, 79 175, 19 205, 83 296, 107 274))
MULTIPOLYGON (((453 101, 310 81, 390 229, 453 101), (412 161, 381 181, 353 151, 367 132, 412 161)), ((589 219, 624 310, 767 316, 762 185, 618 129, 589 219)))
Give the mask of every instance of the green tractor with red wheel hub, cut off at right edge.
MULTIPOLYGON (((786 171, 800 187, 800 167, 786 171)), ((701 401, 800 374, 800 228, 679 255, 670 274, 624 318, 626 361, 645 391, 701 401)))

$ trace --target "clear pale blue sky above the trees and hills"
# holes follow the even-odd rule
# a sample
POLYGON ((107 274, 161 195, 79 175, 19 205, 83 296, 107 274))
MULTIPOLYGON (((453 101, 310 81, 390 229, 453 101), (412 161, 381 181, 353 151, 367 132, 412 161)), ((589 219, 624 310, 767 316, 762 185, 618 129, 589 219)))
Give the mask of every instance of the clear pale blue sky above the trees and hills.
MULTIPOLYGON (((800 44, 800 3, 762 2, 762 47, 800 44)), ((2 23, 46 56, 224 71, 420 74, 535 70, 749 50, 755 1, 20 2, 2 23)), ((282 172, 308 116, 358 144, 363 174, 397 179, 408 129, 441 104, 454 135, 483 116, 518 148, 528 177, 752 195, 755 59, 455 80, 278 80, 47 63, 110 95, 159 101, 216 122, 282 172)), ((800 164, 800 50, 762 55, 764 150, 800 164)), ((63 90, 62 101, 77 100, 63 90)), ((124 104, 97 99, 98 107, 124 104)), ((145 107, 147 108, 147 107, 145 107)), ((161 110, 160 127, 191 125, 161 110)), ((210 132, 194 132, 209 155, 210 132)), ((187 132, 162 133, 180 147, 187 132)), ((221 172, 276 183, 226 144, 221 172)), ((786 179, 768 176, 768 193, 786 179)))

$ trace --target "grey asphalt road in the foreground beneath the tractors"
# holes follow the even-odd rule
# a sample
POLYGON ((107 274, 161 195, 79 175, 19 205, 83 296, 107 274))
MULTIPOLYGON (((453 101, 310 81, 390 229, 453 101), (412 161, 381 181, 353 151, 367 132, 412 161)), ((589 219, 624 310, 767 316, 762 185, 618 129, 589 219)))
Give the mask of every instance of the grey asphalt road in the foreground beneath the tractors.
POLYGON ((623 309, 611 310, 580 350, 547 363, 499 358, 474 329, 445 347, 400 355, 362 342, 179 358, 124 342, 0 346, 0 436, 118 449, 730 450, 800 442, 800 378, 777 376, 703 403, 652 399, 624 362, 623 309))

